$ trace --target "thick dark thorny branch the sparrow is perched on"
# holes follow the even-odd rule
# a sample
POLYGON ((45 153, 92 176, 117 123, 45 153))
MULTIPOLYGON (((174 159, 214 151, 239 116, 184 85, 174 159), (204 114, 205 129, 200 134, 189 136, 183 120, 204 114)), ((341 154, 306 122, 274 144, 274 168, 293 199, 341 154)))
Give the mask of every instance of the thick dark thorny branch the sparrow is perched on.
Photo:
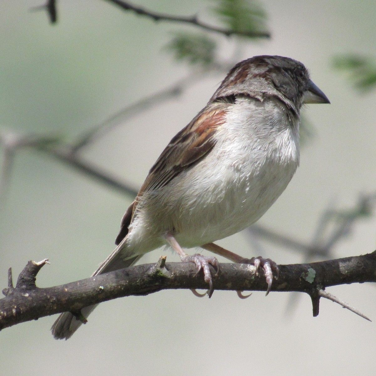
MULTIPOLYGON (((60 312, 79 312, 85 306, 131 295, 147 295, 166 289, 206 289, 202 274, 196 273, 193 263, 137 265, 111 273, 86 278, 69 284, 38 288, 35 277, 47 259, 29 261, 12 287, 11 273, 8 288, 0 299, 0 329, 39 317, 60 312)), ((279 277, 271 291, 299 291, 309 294, 318 314, 318 301, 328 286, 376 282, 376 251, 367 255, 311 264, 279 265, 279 277)), ((263 275, 255 275, 255 267, 247 264, 221 264, 214 276, 215 290, 266 291, 263 275)), ((261 273, 262 274, 262 273, 261 273)))

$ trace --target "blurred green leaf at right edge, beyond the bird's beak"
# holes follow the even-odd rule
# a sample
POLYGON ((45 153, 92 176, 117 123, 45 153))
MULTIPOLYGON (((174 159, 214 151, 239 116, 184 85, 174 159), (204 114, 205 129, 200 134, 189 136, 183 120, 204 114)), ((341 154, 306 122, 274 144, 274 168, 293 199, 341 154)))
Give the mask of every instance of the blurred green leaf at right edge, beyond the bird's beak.
POLYGON ((357 89, 370 90, 376 87, 374 59, 359 55, 338 55, 334 57, 333 65, 345 71, 357 89))

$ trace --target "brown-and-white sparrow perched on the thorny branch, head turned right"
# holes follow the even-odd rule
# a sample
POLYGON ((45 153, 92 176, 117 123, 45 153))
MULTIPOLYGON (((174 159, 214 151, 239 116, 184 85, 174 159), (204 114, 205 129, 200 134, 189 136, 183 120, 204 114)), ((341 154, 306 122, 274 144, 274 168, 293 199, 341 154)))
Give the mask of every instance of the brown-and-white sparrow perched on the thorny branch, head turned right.
MULTIPOLYGON (((232 261, 243 258, 213 242, 255 223, 285 190, 299 165, 300 109, 330 103, 299 61, 254 56, 235 65, 205 108, 171 139, 121 220, 117 247, 93 276, 129 267, 142 255, 171 246, 182 261, 203 270, 215 257, 187 255, 202 247, 232 261)), ((251 259, 265 270, 268 291, 276 264, 251 259)), ((83 308, 83 317, 96 307, 83 308)), ((62 313, 51 330, 68 339, 82 321, 62 313)))

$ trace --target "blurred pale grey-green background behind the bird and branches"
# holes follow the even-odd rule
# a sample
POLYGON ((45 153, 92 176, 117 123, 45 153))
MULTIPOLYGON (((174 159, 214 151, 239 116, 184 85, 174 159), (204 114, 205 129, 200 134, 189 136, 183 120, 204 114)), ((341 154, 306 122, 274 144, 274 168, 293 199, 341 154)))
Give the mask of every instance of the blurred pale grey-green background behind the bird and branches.
MULTIPOLYGON (((300 168, 258 225, 302 244, 318 244, 338 229, 335 223, 325 233, 318 230, 329 210, 337 213, 334 217, 355 220, 341 227, 346 236, 335 241, 325 258, 375 249, 372 200, 366 200, 365 209, 361 204, 362 197, 376 191, 376 90, 367 85, 360 90, 354 71, 334 64, 341 65, 338 56, 346 54, 376 61, 373 0, 260 2, 270 39, 156 23, 99 0, 61 0, 58 22, 50 24, 47 12, 30 11, 41 2, 0 3, 0 147, 6 182, 0 207, 2 288, 8 268, 15 280, 29 259, 51 262, 38 274, 39 287, 90 276, 113 250, 121 217, 133 200, 32 146, 17 148, 9 159, 6 146, 24 136, 73 143, 104 121, 111 129, 82 147, 79 156, 136 190, 172 136, 205 106, 225 70, 261 54, 303 62, 331 105, 305 108, 311 136, 304 138, 300 168), (200 32, 217 44, 215 62, 221 63, 206 73, 214 62, 209 68, 178 62, 171 42, 176 33, 200 32), (157 93, 180 80, 180 95, 106 122, 144 98, 159 98, 157 93)), ((224 27, 212 11, 217 4, 135 3, 156 12, 197 14, 224 27)), ((350 63, 345 59, 341 66, 356 65, 350 63)), ((249 230, 218 244, 279 264, 323 259, 262 240, 249 230)), ((153 251, 141 261, 157 261, 161 254, 178 261, 170 250, 153 251)), ((376 320, 373 285, 327 291, 376 320)), ((3 374, 228 375, 259 373, 262 367, 265 374, 367 375, 376 368, 374 322, 323 299, 320 315, 313 318, 310 298, 303 294, 270 293, 265 298, 254 292, 241 300, 235 292, 215 291, 211 299, 197 299, 181 290, 117 299, 101 304, 69 341, 53 340, 50 326, 56 317, 0 333, 3 374)))

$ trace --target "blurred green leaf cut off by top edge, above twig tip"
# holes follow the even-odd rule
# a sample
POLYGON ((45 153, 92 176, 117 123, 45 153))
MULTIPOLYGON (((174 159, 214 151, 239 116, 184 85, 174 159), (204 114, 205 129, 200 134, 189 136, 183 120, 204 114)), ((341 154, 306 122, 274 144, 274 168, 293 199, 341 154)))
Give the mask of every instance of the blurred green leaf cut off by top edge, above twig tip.
POLYGON ((251 0, 220 0, 214 12, 227 27, 237 32, 257 32, 266 29, 266 12, 261 5, 251 0))

